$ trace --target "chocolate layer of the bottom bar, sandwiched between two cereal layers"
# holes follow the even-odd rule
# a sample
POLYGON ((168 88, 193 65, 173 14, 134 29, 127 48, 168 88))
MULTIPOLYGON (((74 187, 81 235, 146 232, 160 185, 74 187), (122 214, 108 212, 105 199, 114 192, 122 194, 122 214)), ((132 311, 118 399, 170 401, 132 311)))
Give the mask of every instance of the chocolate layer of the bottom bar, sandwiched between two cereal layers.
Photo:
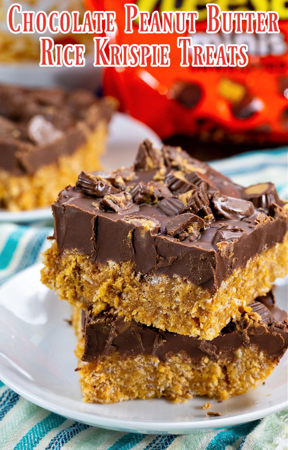
POLYGON ((258 297, 249 305, 250 313, 243 312, 236 322, 231 320, 212 341, 161 331, 134 320, 125 322, 113 308, 98 316, 83 311, 85 347, 82 360, 94 361, 117 351, 122 356, 145 354, 165 361, 181 352, 197 364, 203 356, 212 360, 219 357, 233 360, 235 350, 243 345, 256 345, 270 358, 280 359, 288 347, 287 313, 275 306, 272 299, 271 293, 258 297))

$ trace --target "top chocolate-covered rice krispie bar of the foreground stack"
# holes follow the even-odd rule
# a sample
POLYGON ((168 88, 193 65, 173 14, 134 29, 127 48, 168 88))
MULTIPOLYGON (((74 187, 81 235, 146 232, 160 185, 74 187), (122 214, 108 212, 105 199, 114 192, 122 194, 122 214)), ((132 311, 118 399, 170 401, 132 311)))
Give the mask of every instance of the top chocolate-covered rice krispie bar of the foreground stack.
POLYGON ((145 141, 130 169, 81 172, 52 205, 42 282, 99 314, 213 339, 287 271, 287 209, 181 148, 145 141))

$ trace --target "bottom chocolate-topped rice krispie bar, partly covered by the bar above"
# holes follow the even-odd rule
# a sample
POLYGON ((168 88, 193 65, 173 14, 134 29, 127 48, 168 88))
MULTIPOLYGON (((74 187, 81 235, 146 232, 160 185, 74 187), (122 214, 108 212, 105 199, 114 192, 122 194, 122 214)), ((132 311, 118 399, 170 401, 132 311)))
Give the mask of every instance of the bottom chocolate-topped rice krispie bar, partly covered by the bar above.
POLYGON ((212 341, 125 322, 113 308, 96 316, 74 307, 72 323, 87 402, 225 400, 262 384, 288 347, 287 313, 271 293, 244 307, 212 341))

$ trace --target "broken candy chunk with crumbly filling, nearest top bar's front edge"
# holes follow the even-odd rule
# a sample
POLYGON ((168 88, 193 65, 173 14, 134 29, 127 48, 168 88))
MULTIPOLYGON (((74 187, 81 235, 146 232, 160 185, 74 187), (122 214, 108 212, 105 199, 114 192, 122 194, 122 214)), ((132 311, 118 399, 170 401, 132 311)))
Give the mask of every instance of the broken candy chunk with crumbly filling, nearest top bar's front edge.
POLYGON ((165 233, 180 241, 187 239, 195 242, 200 236, 200 230, 207 229, 209 226, 201 217, 186 212, 170 219, 166 224, 165 233))

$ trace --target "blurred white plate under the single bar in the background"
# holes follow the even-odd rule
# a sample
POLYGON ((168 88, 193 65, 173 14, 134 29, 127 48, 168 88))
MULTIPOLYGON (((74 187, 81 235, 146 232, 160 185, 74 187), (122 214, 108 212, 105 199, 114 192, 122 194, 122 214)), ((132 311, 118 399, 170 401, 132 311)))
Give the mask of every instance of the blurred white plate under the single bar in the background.
MULTIPOLYGON (((103 168, 112 171, 117 167, 131 166, 136 150, 144 139, 150 139, 158 147, 162 145, 161 139, 147 125, 127 114, 115 112, 109 125, 107 151, 101 158, 103 168)), ((21 212, 0 209, 0 222, 27 223, 44 219, 52 219, 51 208, 21 212)))

